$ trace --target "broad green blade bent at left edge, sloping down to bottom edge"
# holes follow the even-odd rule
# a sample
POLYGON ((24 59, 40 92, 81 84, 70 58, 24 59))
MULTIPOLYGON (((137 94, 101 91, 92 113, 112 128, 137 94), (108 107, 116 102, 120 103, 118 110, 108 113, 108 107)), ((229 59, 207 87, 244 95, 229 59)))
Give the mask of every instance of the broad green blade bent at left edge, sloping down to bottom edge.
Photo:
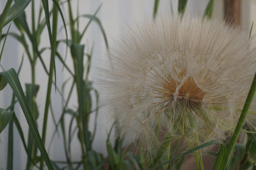
POLYGON ((19 82, 19 79, 17 77, 16 71, 13 68, 11 68, 8 71, 0 72, 0 75, 3 76, 5 78, 5 80, 8 82, 8 84, 12 87, 12 89, 13 89, 16 97, 17 97, 17 100, 18 100, 18 102, 21 106, 21 109, 22 109, 22 111, 25 115, 25 118, 28 122, 30 130, 31 130, 31 132, 34 136, 35 142, 36 142, 40 152, 42 153, 42 157, 44 158, 48 169, 53 170, 53 167, 51 165, 51 161, 50 161, 49 156, 48 156, 48 154, 45 150, 42 139, 41 139, 41 137, 38 133, 33 115, 31 113, 29 104, 26 100, 25 94, 24 94, 24 92, 22 90, 22 87, 20 85, 20 82, 19 82))

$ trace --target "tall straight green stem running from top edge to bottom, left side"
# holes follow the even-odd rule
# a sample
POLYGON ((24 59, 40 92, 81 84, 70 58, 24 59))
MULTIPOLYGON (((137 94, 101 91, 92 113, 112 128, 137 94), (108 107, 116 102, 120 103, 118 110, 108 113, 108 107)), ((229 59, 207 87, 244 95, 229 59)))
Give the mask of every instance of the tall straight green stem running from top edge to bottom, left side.
MULTIPOLYGON (((59 3, 59 0, 56 0, 59 3)), ((56 37, 57 37, 57 24, 58 24, 58 8, 56 5, 53 4, 52 9, 52 41, 53 41, 53 52, 51 52, 51 62, 50 62, 50 71, 48 77, 48 86, 47 86, 47 94, 46 94, 46 102, 45 102, 45 112, 44 112, 44 120, 43 120, 43 132, 42 132, 42 141, 45 145, 45 138, 46 138, 46 129, 47 129, 47 120, 48 120, 48 113, 49 113, 49 106, 51 102, 51 84, 53 78, 53 67, 54 67, 54 56, 56 52, 56 37)), ((44 160, 41 158, 40 161, 40 170, 44 169, 44 160)))

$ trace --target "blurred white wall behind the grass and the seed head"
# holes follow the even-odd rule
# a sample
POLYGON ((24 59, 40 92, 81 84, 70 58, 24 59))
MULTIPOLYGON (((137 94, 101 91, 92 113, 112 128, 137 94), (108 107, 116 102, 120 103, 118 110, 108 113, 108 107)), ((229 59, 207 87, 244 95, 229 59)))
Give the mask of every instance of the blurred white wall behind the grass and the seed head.
MULTIPOLYGON (((4 4, 7 0, 1 0, 0 1, 0 11, 2 11, 4 4)), ((159 11, 170 11, 170 1, 172 2, 174 13, 177 12, 177 1, 178 0, 160 0, 160 8, 159 11)), ((244 0, 246 1, 246 0, 244 0)), ((249 1, 249 0, 248 0, 249 1)), ((49 1, 51 4, 51 1, 49 1)), ((76 0, 73 0, 73 2, 76 2, 76 0)), ((111 40, 110 36, 115 36, 117 34, 121 34, 121 28, 126 29, 127 24, 134 23, 135 20, 140 20, 141 18, 145 16, 152 16, 153 12, 153 5, 154 0, 80 0, 79 3, 79 11, 80 14, 93 14, 94 11, 98 8, 100 3, 103 3, 102 9, 98 13, 98 17, 100 17, 102 21, 102 25, 105 29, 105 32, 107 34, 107 37, 110 42, 111 46, 111 40)), ((39 4, 39 0, 36 1, 36 6, 39 4)), ((200 15, 202 16, 205 10, 207 4, 207 0, 188 0, 188 12, 192 15, 200 15)), ((256 6, 256 3, 254 4, 256 6)), ((74 14, 75 12, 74 5, 74 14)), ((247 9, 246 6, 243 6, 243 9, 245 11, 250 11, 247 9)), ((66 16, 68 20, 68 10, 67 8, 63 9, 64 15, 66 16)), ((27 20, 30 25, 31 20, 31 6, 27 8, 27 20)), ((253 11, 253 10, 252 10, 253 11)), ((222 9, 222 0, 216 0, 216 7, 214 10, 214 16, 215 17, 222 17, 223 9, 222 9)), ((246 12, 244 12, 246 13, 246 12)), ((253 13, 253 12, 251 12, 253 13)), ((256 16, 256 15, 254 15, 256 16)), ((247 16, 248 17, 248 16, 247 16)), ((243 17, 244 18, 244 17, 243 17)), ((246 17, 245 17, 246 18, 246 17)), ((249 20, 249 19, 245 19, 249 20)), ((81 29, 83 26, 85 26, 85 23, 87 22, 86 19, 82 19, 80 26, 81 29)), ((251 20, 250 20, 251 21, 251 20)), ((67 21, 68 22, 68 21, 67 21)), ((250 22, 245 22, 245 25, 248 25, 250 22)), ((61 20, 59 21, 59 27, 62 26, 61 20)), ((247 27, 247 26, 246 26, 247 27)), ((4 29, 4 32, 6 31, 6 28, 4 29)), ((12 24, 11 31, 16 32, 15 25, 12 24)), ((59 39, 65 38, 64 32, 60 32, 58 34, 59 39)), ((44 31, 42 37, 41 37, 41 47, 48 45, 49 46, 49 40, 48 40, 48 34, 46 31, 44 31)), ((87 33, 85 34, 85 38, 83 39, 83 43, 85 43, 85 49, 87 50, 87 47, 91 47, 92 43, 94 42, 95 50, 93 53, 93 59, 92 59, 92 71, 90 74, 90 79, 95 79, 95 76, 98 74, 97 69, 95 67, 101 66, 101 60, 102 60, 102 51, 105 50, 105 45, 103 42, 102 34, 100 32, 99 27, 97 24, 92 23, 92 25, 89 27, 87 33)), ((65 55, 65 45, 61 45, 58 51, 62 51, 62 54, 65 55)), ((18 68, 18 65, 21 60, 21 56, 23 54, 24 50, 18 44, 12 37, 8 37, 6 42, 6 47, 4 48, 3 58, 1 61, 2 66, 7 70, 9 68, 14 67, 16 70, 18 68)), ((50 59, 50 51, 47 51, 43 54, 43 58, 46 61, 46 66, 49 67, 49 59, 50 59)), ((57 61, 57 60, 56 60, 57 61)), ((68 58, 66 63, 68 66, 72 68, 72 61, 71 57, 68 53, 68 58)), ((36 65, 36 84, 40 85, 39 93, 37 95, 36 101, 39 106, 39 112, 40 117, 38 119, 38 129, 41 134, 42 131, 42 122, 43 122, 43 112, 44 112, 44 103, 45 103, 45 97, 46 97, 46 89, 47 89, 47 76, 42 68, 42 65, 40 61, 37 61, 36 65)), ((62 83, 68 78, 69 74, 64 69, 62 70, 62 65, 57 61, 56 63, 57 68, 57 85, 61 88, 62 83)), ((31 76, 30 76, 30 66, 27 57, 25 57, 24 64, 20 73, 20 81, 22 84, 22 87, 24 89, 25 83, 31 82, 31 76)), ((70 84, 68 84, 70 85, 70 84)), ((67 85, 67 87, 68 87, 67 85)), ((97 86, 96 86, 97 88, 97 86)), ((54 88, 53 88, 54 89, 54 88)), ((65 96, 67 96, 66 90, 65 96)), ((0 107, 6 108, 10 104, 11 100, 11 89, 10 87, 6 87, 3 91, 0 91, 0 107)), ((61 98, 58 94, 55 94, 54 90, 52 91, 52 104, 53 104, 53 110, 54 115, 56 119, 59 119, 61 115, 61 98)), ((69 107, 75 108, 77 106, 77 98, 75 95, 72 96, 71 102, 69 103, 69 107)), ((18 104, 16 105, 16 115, 20 121, 20 124, 22 126, 23 132, 25 134, 25 138, 27 139, 27 132, 28 132, 28 125, 24 118, 23 113, 20 110, 20 107, 18 104)), ((68 117, 67 117, 67 121, 68 117)), ((94 122, 94 115, 91 117, 91 124, 90 129, 93 127, 94 122)), ((105 148, 105 137, 109 130, 109 127, 111 126, 111 121, 109 119, 106 119, 104 116, 100 116, 98 118, 98 129, 95 137, 95 142, 93 144, 93 147, 98 152, 106 153, 105 148)), ((48 149, 49 141, 51 138, 52 131, 54 129, 53 121, 51 118, 51 115, 49 115, 48 119, 48 126, 47 126, 47 139, 46 139, 46 149, 48 149)), ((0 169, 3 170, 6 169, 6 159, 7 159, 7 139, 8 139, 8 128, 6 128, 1 134, 0 134, 0 169)), ((21 141, 19 139, 17 130, 15 128, 14 133, 14 170, 24 170, 26 166, 26 153, 23 149, 23 146, 21 144, 21 141)), ((72 143, 72 158, 73 160, 80 160, 81 152, 80 152, 80 145, 77 140, 74 140, 72 143)), ((50 151, 50 157, 53 160, 64 160, 65 154, 63 149, 63 142, 61 137, 58 138, 55 136, 54 141, 51 146, 50 151)))

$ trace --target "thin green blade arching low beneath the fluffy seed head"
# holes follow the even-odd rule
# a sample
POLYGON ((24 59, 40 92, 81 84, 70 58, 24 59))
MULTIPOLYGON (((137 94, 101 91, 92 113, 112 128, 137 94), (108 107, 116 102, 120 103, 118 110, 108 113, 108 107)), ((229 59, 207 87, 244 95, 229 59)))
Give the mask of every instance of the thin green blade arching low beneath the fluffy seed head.
POLYGON ((204 143, 202 145, 199 145, 199 146, 197 146, 197 147, 195 147, 195 148, 193 148, 193 149, 191 149, 191 150, 189 150, 189 151, 187 151, 187 152, 185 152, 185 153, 183 153, 183 154, 181 154, 179 156, 176 156, 176 157, 170 159, 169 161, 166 161, 166 162, 164 162, 164 163, 162 163, 160 165, 157 165, 155 167, 149 168, 147 170, 157 170, 158 168, 162 167, 163 165, 165 165, 167 163, 171 163, 171 162, 173 162, 173 161, 175 161, 175 160, 177 160, 179 158, 182 158, 183 156, 188 155, 189 153, 193 153, 193 152, 195 152, 197 150, 200 150, 202 148, 205 148, 205 147, 213 145, 213 144, 222 144, 222 142, 219 141, 219 140, 212 140, 212 141, 206 142, 206 143, 204 143))

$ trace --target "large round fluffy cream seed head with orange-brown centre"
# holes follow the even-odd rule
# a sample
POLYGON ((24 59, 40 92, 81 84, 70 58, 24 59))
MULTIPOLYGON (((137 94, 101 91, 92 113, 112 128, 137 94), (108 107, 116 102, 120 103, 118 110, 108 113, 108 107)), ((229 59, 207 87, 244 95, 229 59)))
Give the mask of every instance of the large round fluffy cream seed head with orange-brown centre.
MULTIPOLYGON (((130 28, 116 41, 113 68, 104 69, 101 81, 120 134, 147 148, 169 140, 181 152, 225 140, 256 70, 254 38, 248 36, 224 21, 188 15, 130 28)), ((254 120, 251 115, 248 123, 254 120)))

